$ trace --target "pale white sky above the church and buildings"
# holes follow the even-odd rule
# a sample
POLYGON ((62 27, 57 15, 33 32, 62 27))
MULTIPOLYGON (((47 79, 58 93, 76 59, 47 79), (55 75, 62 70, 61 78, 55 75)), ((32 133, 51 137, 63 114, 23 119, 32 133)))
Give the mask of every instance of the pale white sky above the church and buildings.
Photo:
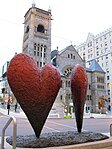
MULTIPOLYGON (((77 45, 112 27, 112 0, 34 0, 36 7, 52 12, 52 42, 54 50, 77 45)), ((15 52, 21 53, 24 15, 33 0, 2 0, 0 2, 0 72, 3 64, 15 52)))

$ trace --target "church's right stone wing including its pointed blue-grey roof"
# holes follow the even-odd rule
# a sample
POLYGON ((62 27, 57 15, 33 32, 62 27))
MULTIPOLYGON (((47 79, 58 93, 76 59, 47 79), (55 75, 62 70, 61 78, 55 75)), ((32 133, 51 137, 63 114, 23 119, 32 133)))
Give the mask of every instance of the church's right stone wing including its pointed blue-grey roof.
MULTIPOLYGON (((86 111, 99 112, 98 103, 101 97, 106 98, 105 72, 94 59, 91 65, 86 68, 88 74, 88 92, 86 98, 86 111)), ((105 99, 106 100, 106 99, 105 99)), ((107 104, 104 107, 106 112, 107 104)))

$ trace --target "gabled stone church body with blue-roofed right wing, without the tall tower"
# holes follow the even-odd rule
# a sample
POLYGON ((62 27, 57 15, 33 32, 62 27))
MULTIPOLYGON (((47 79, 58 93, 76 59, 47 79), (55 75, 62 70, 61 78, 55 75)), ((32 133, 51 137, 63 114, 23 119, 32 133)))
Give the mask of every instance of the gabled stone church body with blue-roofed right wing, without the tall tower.
MULTIPOLYGON (((57 113, 60 113, 60 117, 62 117, 63 112, 72 114, 74 110, 70 90, 71 71, 76 64, 80 64, 85 67, 85 62, 72 45, 61 51, 52 51, 51 61, 52 64, 59 70, 62 78, 62 86, 54 104, 55 109, 57 109, 57 113)), ((106 93, 105 72, 95 60, 93 60, 89 68, 85 69, 88 74, 88 91, 85 111, 99 112, 98 102, 100 97, 105 97, 106 93)))

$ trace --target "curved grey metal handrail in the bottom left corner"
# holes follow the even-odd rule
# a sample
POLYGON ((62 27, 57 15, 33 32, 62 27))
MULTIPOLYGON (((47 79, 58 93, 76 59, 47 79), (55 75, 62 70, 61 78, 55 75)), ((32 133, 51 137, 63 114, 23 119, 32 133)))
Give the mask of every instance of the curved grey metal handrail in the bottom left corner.
POLYGON ((16 135, 17 135, 17 122, 14 116, 9 116, 9 120, 6 125, 2 129, 2 138, 1 138, 1 149, 4 149, 4 139, 5 139, 5 130, 9 126, 9 124, 13 121, 13 144, 12 149, 16 149, 16 135))

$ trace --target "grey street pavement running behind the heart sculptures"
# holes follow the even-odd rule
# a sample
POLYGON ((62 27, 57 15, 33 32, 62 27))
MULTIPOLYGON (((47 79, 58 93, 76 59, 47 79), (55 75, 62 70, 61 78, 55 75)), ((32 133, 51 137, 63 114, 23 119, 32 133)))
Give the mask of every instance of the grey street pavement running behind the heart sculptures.
MULTIPOLYGON (((2 128, 6 124, 8 118, 0 116, 0 136, 2 128)), ((111 118, 84 118, 82 131, 92 131, 109 134, 111 118)), ((47 119, 41 133, 52 131, 76 131, 75 119, 47 119)), ((13 133, 13 125, 10 124, 6 129, 6 136, 11 136, 13 133)), ((17 118, 17 135, 30 135, 34 131, 26 118, 17 118)))

